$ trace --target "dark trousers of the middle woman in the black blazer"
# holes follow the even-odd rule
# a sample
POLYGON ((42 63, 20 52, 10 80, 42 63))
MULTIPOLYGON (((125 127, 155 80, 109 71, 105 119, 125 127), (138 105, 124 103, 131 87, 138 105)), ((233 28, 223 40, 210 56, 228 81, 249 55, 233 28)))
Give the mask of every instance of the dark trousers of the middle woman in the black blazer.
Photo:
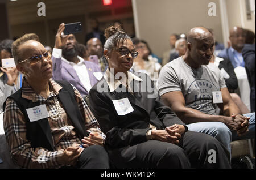
POLYGON ((177 145, 148 140, 108 152, 115 168, 231 168, 224 145, 192 131, 185 132, 177 145))

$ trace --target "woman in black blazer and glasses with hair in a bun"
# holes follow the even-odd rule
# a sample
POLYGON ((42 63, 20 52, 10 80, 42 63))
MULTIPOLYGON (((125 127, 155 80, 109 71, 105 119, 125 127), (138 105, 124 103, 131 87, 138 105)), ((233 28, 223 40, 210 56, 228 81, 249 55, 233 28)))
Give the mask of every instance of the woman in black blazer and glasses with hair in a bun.
POLYGON ((112 164, 116 168, 230 168, 230 155, 222 144, 207 134, 188 131, 160 102, 150 77, 129 72, 138 55, 130 37, 114 27, 107 28, 105 36, 109 68, 90 90, 89 100, 106 134, 104 147, 112 164))

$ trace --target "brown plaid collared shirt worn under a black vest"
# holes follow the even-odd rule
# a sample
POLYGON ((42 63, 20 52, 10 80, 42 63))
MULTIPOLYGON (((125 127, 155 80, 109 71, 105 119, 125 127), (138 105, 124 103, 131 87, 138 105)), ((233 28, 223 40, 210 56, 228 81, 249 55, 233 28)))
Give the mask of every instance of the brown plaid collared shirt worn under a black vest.
MULTIPOLYGON (((52 79, 49 80, 49 96, 46 98, 36 94, 27 80, 23 78, 22 83, 22 97, 32 100, 33 102, 40 102, 41 105, 46 105, 48 112, 56 114, 56 105, 53 97, 59 94, 62 87, 52 79)), ((80 93, 75 87, 75 98, 77 105, 79 106, 82 117, 85 120, 85 126, 88 132, 99 132, 103 139, 105 135, 101 132, 98 122, 85 101, 81 97, 80 93)), ((64 149, 68 148, 72 144, 81 144, 81 139, 77 137, 75 127, 71 119, 65 113, 65 109, 61 101, 60 112, 61 118, 58 121, 53 121, 48 117, 49 126, 51 128, 53 145, 55 151, 48 151, 42 147, 31 148, 30 141, 26 138, 26 119, 23 113, 16 105, 16 102, 10 98, 6 101, 6 109, 3 117, 6 141, 9 145, 10 154, 14 162, 16 162, 22 168, 60 168, 64 164, 60 164, 62 160, 64 149)))

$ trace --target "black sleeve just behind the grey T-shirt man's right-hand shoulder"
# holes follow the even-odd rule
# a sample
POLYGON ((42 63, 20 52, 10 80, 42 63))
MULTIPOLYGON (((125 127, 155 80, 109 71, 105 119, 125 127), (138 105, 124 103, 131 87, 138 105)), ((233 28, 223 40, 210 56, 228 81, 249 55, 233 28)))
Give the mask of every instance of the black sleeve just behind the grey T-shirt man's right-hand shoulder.
POLYGON ((234 72, 234 67, 229 59, 224 59, 224 61, 220 62, 218 68, 224 68, 224 70, 229 74, 229 79, 225 79, 226 87, 228 87, 229 92, 234 92, 235 89, 238 88, 237 76, 234 72))

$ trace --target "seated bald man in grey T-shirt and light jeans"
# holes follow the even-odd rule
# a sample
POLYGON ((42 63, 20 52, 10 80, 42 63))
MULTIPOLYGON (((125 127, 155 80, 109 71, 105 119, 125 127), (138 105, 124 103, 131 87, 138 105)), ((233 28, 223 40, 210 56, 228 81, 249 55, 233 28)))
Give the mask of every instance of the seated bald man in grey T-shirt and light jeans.
POLYGON ((185 55, 160 71, 159 95, 188 130, 214 136, 231 152, 232 138, 255 138, 255 113, 241 115, 234 104, 220 70, 209 63, 213 45, 208 29, 192 28, 185 55), (218 114, 217 106, 224 115, 218 114))

